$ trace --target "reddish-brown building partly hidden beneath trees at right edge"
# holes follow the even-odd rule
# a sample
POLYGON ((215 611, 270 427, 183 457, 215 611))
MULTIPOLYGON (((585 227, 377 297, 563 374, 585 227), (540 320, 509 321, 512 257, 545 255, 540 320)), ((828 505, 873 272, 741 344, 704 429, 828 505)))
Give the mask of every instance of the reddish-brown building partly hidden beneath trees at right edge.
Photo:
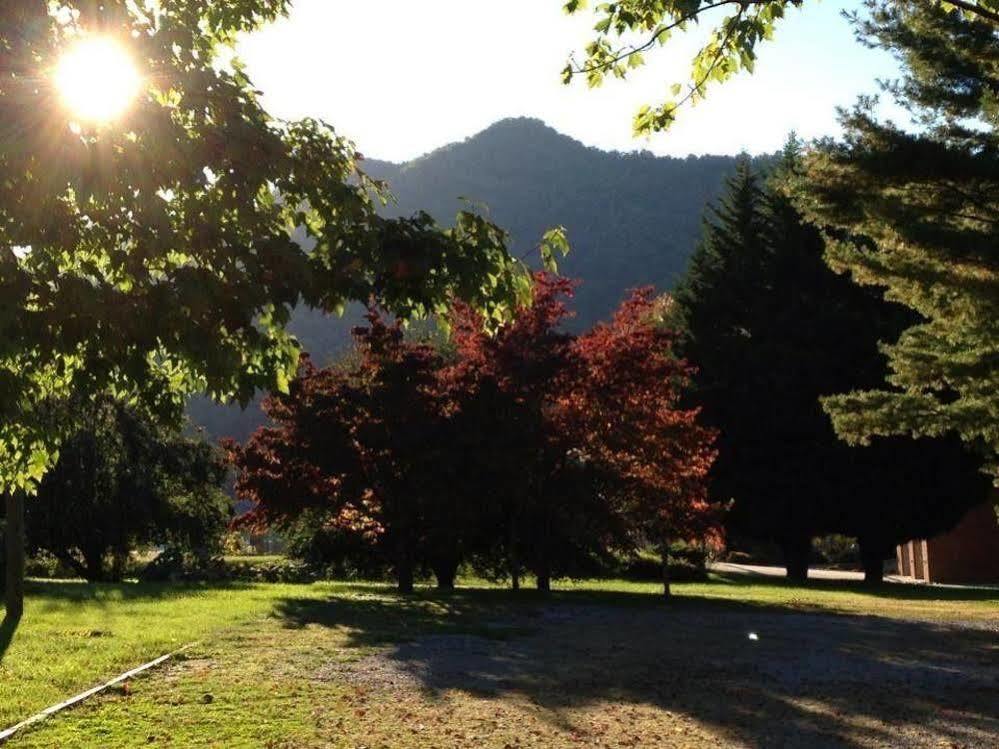
POLYGON ((971 509, 948 533, 899 546, 899 574, 933 583, 999 583, 995 502, 971 509))

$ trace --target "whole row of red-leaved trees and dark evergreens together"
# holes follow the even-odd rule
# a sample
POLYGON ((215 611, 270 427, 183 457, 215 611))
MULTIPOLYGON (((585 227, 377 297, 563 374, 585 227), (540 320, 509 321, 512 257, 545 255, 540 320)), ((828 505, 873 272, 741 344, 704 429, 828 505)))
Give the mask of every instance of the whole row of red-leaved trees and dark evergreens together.
POLYGON ((896 544, 954 525, 988 481, 955 438, 837 437, 822 397, 876 386, 880 343, 914 316, 826 265, 792 197, 803 169, 793 136, 766 175, 741 160, 675 292, 639 291, 579 336, 574 284, 544 273, 495 335, 463 305, 443 345, 371 313, 356 359, 305 360, 265 405, 274 426, 230 444, 248 520, 292 529, 308 511, 403 590, 420 566, 451 587, 462 562, 547 589, 722 528, 776 543, 798 580, 815 537, 856 538, 879 582, 896 544))

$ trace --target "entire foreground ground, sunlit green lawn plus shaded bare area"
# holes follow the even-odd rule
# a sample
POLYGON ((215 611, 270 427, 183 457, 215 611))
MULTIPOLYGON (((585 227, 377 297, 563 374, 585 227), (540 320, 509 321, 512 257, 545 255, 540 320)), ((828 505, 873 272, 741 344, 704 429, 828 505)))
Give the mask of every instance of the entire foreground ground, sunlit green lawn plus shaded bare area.
POLYGON ((676 593, 39 582, 0 640, 0 726, 197 641, 11 745, 999 745, 995 591, 676 593))

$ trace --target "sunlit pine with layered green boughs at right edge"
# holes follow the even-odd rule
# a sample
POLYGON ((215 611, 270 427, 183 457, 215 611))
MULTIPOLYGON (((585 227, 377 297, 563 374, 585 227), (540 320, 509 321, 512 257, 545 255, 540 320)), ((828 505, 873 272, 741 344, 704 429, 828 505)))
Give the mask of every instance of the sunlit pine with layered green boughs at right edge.
POLYGON ((947 7, 869 3, 860 33, 903 63, 887 88, 919 128, 861 101, 809 158, 801 202, 850 238, 829 242, 835 269, 919 314, 885 348, 888 387, 826 401, 837 431, 957 434, 999 480, 999 17, 947 7))

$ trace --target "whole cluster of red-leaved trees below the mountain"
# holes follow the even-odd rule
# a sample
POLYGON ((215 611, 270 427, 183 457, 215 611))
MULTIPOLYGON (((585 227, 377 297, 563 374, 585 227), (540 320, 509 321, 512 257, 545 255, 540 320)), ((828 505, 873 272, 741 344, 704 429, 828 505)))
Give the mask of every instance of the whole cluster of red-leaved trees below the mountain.
POLYGON ((563 323, 573 284, 540 272, 533 299, 495 334, 456 305, 441 346, 377 311, 354 358, 303 359, 271 424, 228 443, 245 523, 303 513, 389 560, 399 589, 463 562, 541 590, 594 559, 653 543, 669 592, 671 541, 713 537, 713 433, 681 404, 690 369, 662 325, 668 301, 636 291, 581 335, 563 323))

